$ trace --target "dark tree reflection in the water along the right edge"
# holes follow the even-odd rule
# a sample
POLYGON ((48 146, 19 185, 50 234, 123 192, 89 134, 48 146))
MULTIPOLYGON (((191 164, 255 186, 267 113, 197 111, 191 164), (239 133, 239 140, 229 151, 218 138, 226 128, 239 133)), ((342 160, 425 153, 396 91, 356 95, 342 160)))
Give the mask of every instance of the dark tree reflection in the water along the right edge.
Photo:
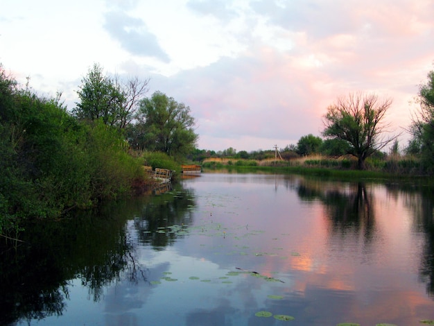
MULTIPOLYGON (((397 185, 389 185, 388 188, 397 185)), ((434 189, 433 187, 400 187, 403 203, 413 211, 413 229, 423 232, 425 246, 422 251, 419 276, 426 283, 428 295, 434 298, 434 189)))

